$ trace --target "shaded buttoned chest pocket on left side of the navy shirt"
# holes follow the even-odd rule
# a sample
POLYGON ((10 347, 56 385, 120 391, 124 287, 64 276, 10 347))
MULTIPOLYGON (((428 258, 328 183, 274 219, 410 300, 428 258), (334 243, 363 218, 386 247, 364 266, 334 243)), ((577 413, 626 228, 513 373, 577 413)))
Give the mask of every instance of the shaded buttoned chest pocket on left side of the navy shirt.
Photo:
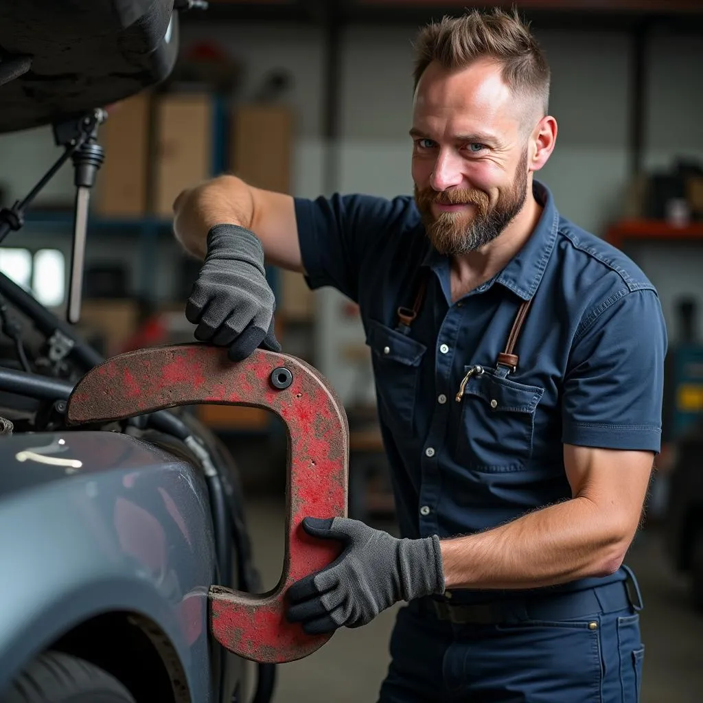
POLYGON ((367 323, 366 344, 372 352, 382 419, 389 427, 408 430, 415 415, 420 363, 427 347, 375 320, 367 323))

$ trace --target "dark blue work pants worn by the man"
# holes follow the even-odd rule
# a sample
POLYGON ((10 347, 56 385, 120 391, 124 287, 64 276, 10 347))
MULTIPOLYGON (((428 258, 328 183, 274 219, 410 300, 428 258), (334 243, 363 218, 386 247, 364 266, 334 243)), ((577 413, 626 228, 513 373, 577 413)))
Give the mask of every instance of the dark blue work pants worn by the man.
POLYGON ((399 611, 379 703, 638 703, 644 647, 632 607, 515 624, 399 611))

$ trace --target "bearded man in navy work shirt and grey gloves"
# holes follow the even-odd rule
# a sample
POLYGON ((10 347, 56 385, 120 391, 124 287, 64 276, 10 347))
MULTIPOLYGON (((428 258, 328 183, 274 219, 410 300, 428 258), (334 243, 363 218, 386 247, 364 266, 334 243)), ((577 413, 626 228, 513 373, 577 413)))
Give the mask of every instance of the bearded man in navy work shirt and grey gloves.
POLYGON ((550 72, 515 14, 416 43, 414 198, 303 200, 232 176, 181 194, 205 257, 195 336, 278 349, 264 257, 359 302, 398 540, 316 515, 345 544, 290 588, 310 632, 399 610, 380 701, 633 702, 643 659, 622 566, 659 451, 666 331, 633 262, 560 217, 550 72))

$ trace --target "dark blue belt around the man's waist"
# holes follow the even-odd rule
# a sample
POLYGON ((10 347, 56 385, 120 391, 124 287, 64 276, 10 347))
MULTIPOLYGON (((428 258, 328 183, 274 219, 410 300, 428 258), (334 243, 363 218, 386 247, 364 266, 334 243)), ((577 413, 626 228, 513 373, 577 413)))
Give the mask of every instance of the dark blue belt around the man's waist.
POLYGON ((450 603, 427 596, 411 607, 439 620, 460 625, 516 624, 527 620, 572 620, 631 608, 642 609, 642 597, 632 572, 625 581, 572 593, 550 593, 487 603, 450 603), (631 588, 631 586, 633 588, 631 588))

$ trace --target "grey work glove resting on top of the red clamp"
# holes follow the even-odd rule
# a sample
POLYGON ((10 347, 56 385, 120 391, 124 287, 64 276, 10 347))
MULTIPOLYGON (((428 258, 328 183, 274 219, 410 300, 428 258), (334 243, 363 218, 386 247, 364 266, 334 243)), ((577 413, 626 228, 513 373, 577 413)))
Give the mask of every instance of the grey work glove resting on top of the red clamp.
POLYGON ((259 346, 280 352, 273 333, 275 309, 259 238, 237 225, 214 226, 186 304, 186 318, 198 325, 195 339, 229 347, 232 361, 246 359, 259 346))

